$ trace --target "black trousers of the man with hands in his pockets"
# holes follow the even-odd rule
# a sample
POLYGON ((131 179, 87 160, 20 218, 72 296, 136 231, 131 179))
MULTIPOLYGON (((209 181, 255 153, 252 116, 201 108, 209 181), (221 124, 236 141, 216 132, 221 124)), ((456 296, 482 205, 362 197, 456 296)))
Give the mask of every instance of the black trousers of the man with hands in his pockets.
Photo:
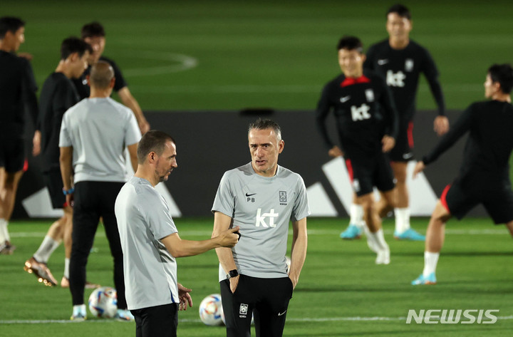
POLYGON ((251 336, 252 314, 257 336, 283 336, 293 291, 289 277, 261 279, 241 275, 233 294, 228 280, 219 282, 219 285, 227 337, 251 336))

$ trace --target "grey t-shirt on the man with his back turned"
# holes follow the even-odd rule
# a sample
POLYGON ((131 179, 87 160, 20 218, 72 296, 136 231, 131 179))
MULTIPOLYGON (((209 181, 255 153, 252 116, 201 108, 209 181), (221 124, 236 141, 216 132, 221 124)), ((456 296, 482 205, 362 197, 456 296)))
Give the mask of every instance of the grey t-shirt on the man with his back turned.
POLYGON ((125 182, 123 151, 140 138, 132 110, 111 98, 85 98, 64 113, 59 147, 73 146, 75 182, 125 182))

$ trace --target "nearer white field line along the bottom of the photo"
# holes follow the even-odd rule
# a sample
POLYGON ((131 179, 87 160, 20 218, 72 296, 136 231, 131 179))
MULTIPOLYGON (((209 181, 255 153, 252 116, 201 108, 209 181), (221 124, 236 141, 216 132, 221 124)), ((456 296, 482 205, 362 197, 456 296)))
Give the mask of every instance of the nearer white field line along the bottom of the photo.
MULTIPOLYGON (((497 316, 497 319, 500 320, 511 320, 513 316, 497 316)), ((287 318, 289 322, 336 322, 336 321, 349 321, 349 322, 365 322, 365 321, 406 321, 406 317, 305 317, 305 318, 287 318)), ((16 320, 4 320, 0 321, 0 324, 48 324, 48 323, 108 323, 113 320, 109 319, 95 319, 90 321, 76 322, 70 321, 68 319, 43 319, 43 320, 33 320, 33 319, 16 319, 16 320)), ((200 323, 199 319, 180 319, 180 323, 200 323)))

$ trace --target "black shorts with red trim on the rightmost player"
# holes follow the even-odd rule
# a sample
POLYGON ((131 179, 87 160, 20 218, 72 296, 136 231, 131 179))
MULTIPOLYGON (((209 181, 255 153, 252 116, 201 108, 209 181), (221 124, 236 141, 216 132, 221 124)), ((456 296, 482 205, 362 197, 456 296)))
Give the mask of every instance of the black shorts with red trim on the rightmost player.
POLYGON ((513 220, 513 191, 509 182, 498 183, 486 189, 465 186, 456 179, 442 192, 440 202, 457 219, 462 219, 470 209, 482 204, 495 224, 513 220), (495 188, 494 188, 495 187, 495 188))

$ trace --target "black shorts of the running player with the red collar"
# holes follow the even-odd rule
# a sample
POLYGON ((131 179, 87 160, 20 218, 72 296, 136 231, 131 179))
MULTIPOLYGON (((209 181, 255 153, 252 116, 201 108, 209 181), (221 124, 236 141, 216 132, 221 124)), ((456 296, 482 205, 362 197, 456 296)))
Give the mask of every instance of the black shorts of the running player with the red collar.
POLYGON ((383 152, 373 157, 347 159, 346 167, 353 192, 358 197, 372 193, 374 186, 381 192, 388 192, 395 187, 392 167, 383 152))

